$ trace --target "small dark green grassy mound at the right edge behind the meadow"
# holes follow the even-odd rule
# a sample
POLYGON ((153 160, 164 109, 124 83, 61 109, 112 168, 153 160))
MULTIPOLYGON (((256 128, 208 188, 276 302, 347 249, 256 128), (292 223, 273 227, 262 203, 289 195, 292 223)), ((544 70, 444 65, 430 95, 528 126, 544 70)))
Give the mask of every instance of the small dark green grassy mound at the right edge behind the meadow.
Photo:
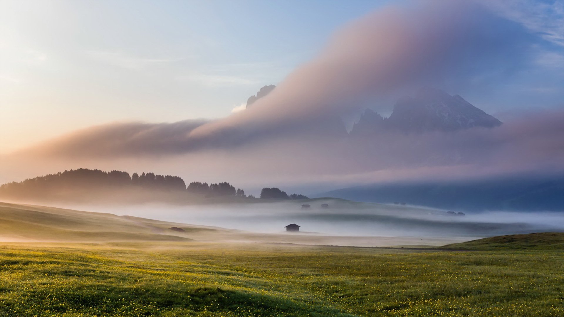
POLYGON ((463 243, 449 244, 443 248, 464 250, 564 250, 564 232, 540 232, 527 235, 487 237, 463 243))

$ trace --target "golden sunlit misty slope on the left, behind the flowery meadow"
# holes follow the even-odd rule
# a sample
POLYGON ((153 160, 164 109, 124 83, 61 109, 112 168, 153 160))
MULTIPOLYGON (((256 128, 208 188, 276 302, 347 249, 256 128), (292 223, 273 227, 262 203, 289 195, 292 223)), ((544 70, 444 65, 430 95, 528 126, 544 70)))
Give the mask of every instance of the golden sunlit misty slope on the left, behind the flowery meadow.
POLYGON ((214 227, 0 202, 0 241, 189 241, 214 227), (170 230, 182 227, 185 232, 170 230))

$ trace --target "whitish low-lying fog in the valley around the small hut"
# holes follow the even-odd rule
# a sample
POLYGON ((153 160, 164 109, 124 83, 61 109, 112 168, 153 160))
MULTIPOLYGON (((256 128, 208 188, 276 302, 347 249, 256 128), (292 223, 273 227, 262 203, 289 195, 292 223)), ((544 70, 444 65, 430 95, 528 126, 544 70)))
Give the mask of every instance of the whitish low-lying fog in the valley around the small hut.
POLYGON ((302 232, 338 236, 482 237, 564 231, 564 213, 483 212, 450 214, 417 206, 342 200, 178 206, 68 206, 78 210, 277 233, 296 223, 302 232), (322 208, 321 204, 328 204, 322 208))

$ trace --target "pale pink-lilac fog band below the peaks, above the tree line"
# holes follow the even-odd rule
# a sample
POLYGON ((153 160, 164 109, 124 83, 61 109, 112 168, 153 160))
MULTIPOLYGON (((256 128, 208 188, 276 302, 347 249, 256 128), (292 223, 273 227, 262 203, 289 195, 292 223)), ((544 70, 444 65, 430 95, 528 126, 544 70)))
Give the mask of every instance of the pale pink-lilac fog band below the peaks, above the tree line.
POLYGON ((366 139, 278 137, 237 148, 158 158, 38 161, 37 156, 18 155, 0 160, 0 177, 5 178, 3 182, 19 181, 46 171, 57 173, 77 168, 153 171, 179 175, 186 182, 230 182, 257 195, 260 188, 273 186, 309 194, 398 180, 468 180, 520 173, 553 175, 564 171, 562 122, 563 111, 547 111, 506 121, 493 129, 417 135, 388 133, 366 139))

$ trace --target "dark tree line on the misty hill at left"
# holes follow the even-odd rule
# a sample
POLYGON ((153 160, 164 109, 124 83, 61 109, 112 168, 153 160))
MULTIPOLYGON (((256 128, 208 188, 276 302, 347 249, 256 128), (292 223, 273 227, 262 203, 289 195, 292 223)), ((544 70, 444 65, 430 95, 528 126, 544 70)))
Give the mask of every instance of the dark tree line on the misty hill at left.
MULTIPOLYGON (((65 170, 56 174, 48 174, 25 179, 22 182, 11 182, 0 186, 0 194, 5 196, 33 196, 34 193, 45 193, 52 190, 77 190, 108 187, 145 188, 148 190, 189 192, 211 196, 239 196, 254 199, 253 195, 245 195, 241 188, 235 188, 228 182, 202 183, 186 182, 181 177, 160 175, 155 173, 129 174, 125 171, 109 172, 98 169, 65 170)), ((303 195, 287 195, 279 188, 263 188, 261 199, 306 199, 303 195)))

